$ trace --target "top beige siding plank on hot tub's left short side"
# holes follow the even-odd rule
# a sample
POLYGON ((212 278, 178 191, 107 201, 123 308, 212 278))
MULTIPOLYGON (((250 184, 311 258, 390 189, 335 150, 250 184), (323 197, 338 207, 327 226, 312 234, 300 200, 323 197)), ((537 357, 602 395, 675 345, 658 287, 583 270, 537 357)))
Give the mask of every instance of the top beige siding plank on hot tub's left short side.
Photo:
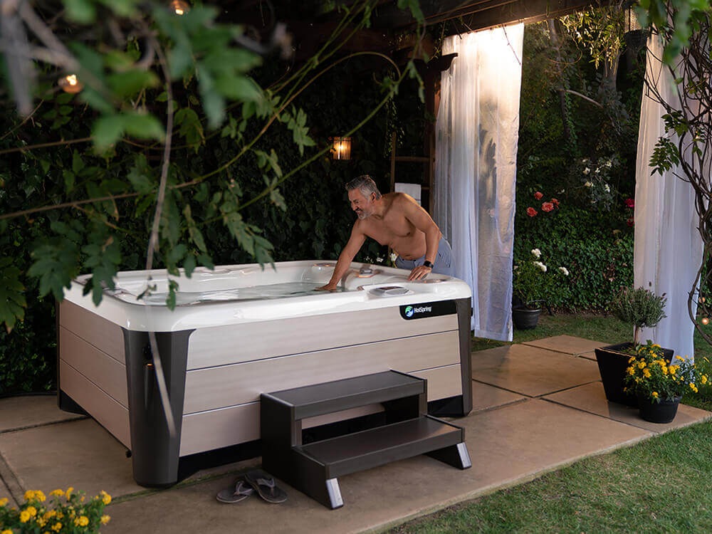
POLYGON ((70 303, 68 300, 63 300, 59 306, 59 324, 61 326, 119 362, 126 362, 124 335, 119 325, 99 317, 91 310, 85 310, 75 303, 70 303))

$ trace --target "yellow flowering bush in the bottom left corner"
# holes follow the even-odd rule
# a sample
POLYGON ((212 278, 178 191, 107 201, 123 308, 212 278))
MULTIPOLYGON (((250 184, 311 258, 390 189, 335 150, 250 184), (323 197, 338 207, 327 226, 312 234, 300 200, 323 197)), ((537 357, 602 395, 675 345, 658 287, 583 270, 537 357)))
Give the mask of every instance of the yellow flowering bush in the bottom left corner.
POLYGON ((111 496, 101 491, 85 502, 83 492, 56 489, 50 492, 51 503, 41 491, 26 491, 25 502, 9 508, 7 499, 0 499, 0 534, 85 534, 98 532, 109 522, 103 513, 111 496))

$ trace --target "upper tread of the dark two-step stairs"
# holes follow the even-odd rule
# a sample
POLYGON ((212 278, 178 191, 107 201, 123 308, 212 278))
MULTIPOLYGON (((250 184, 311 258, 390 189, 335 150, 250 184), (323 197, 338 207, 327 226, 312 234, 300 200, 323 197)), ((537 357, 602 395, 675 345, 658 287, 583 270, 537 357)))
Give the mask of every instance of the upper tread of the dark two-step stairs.
POLYGON ((425 380, 395 371, 268 393, 295 410, 295 419, 328 414, 425 392, 425 380))

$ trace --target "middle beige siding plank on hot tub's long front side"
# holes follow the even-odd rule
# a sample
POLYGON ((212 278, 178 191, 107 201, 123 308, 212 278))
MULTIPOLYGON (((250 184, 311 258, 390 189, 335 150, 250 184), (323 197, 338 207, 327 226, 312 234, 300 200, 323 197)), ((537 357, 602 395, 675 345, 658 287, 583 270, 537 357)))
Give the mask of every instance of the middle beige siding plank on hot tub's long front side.
MULTIPOLYGON (((186 376, 183 413, 253 402, 263 392, 390 369, 424 370, 459 361, 458 333, 452 331, 193 370, 186 376)), ((445 397, 454 394, 459 393, 445 397)))

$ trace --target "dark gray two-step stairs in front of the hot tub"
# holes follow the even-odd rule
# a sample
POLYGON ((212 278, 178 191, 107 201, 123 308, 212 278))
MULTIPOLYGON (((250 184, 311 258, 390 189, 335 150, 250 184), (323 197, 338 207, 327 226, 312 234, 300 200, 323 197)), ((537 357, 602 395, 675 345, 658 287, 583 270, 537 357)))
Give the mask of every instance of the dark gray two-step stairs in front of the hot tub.
POLYGON ((262 466, 328 508, 343 506, 338 476, 427 454, 471 466, 465 432, 427 414, 427 381, 397 371, 261 395, 262 466), (307 417, 382 403, 384 426, 302 444, 307 417))

